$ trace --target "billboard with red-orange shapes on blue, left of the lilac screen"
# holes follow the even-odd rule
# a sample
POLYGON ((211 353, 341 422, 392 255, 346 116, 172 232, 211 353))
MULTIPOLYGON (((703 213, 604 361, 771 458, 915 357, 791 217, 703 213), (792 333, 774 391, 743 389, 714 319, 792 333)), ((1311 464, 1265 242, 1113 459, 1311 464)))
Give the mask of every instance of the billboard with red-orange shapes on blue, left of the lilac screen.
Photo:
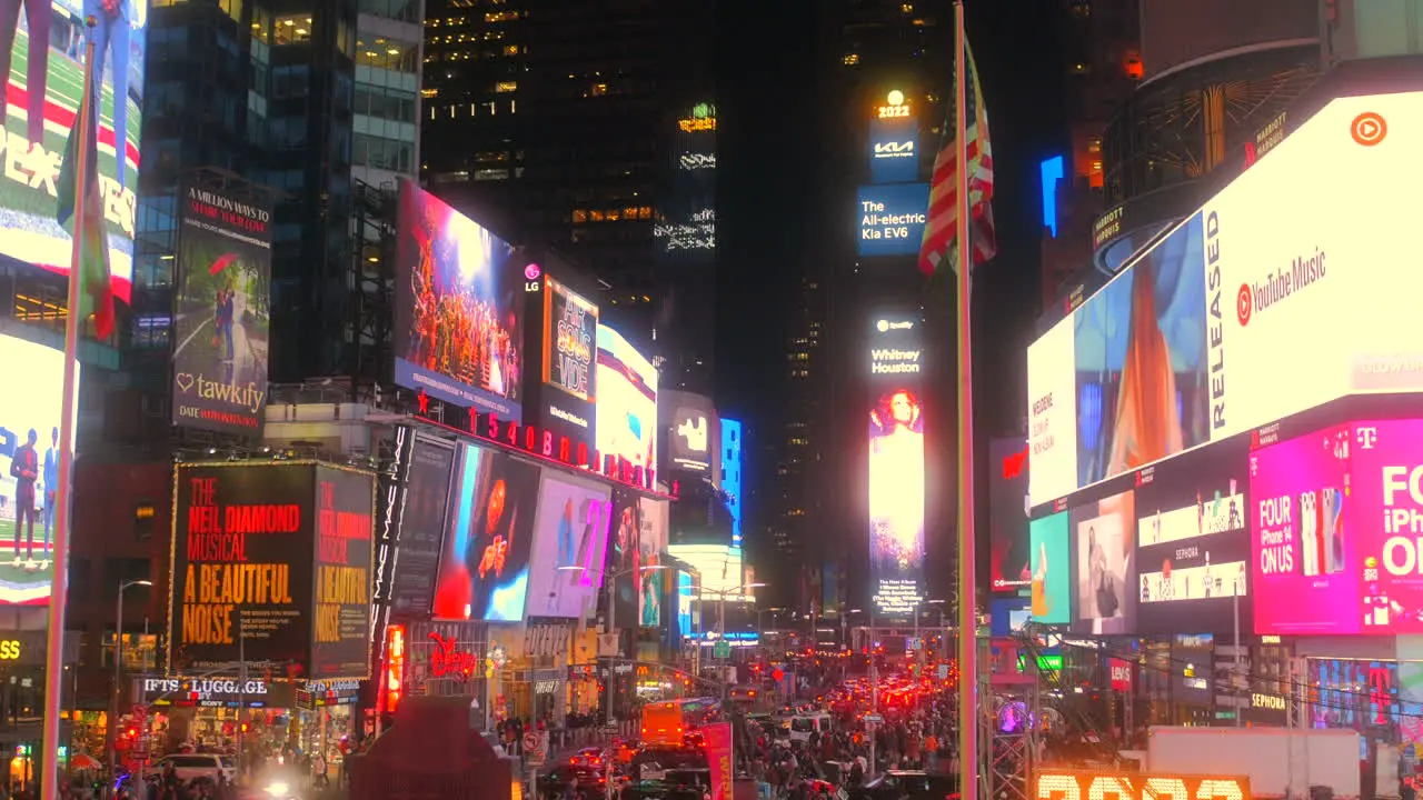
POLYGON ((539 468, 462 444, 453 485, 434 616, 522 621, 539 468))

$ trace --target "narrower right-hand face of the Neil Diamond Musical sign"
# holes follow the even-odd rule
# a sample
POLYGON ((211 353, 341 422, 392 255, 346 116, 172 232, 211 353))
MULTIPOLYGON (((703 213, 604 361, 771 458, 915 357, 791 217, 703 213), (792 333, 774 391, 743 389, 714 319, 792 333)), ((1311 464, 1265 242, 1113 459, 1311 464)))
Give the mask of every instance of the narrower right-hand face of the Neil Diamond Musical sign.
POLYGON ((316 467, 316 614, 307 678, 370 673, 374 531, 374 475, 316 467))

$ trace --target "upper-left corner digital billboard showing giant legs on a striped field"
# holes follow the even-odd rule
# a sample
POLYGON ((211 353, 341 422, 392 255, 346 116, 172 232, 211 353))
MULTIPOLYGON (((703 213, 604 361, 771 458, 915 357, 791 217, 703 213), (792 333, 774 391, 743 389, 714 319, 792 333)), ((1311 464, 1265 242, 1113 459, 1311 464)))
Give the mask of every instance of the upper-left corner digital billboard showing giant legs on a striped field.
POLYGON ((73 245, 55 209, 60 167, 83 94, 85 38, 91 38, 108 263, 115 296, 128 302, 134 285, 148 3, 27 0, 6 3, 3 14, 0 147, 6 169, 0 177, 0 219, 6 233, 0 236, 0 256, 68 273, 73 245), (84 24, 85 16, 94 17, 92 28, 84 24), (31 41, 38 44, 31 47, 31 41))

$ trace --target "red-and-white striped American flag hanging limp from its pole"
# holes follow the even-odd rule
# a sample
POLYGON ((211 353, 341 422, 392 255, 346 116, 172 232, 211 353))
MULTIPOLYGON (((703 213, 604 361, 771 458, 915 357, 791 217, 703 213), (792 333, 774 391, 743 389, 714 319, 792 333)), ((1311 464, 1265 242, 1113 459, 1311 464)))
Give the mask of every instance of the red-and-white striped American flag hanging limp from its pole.
MULTIPOLYGON (((993 232, 993 145, 988 135, 988 110, 983 105, 983 87, 979 84, 978 67, 973 64, 973 48, 963 43, 968 68, 966 140, 969 162, 969 241, 973 245, 973 263, 983 263, 998 253, 998 238, 993 232)), ((949 97, 949 111, 943 122, 943 147, 933 158, 933 179, 929 182, 929 216, 924 226, 924 243, 919 246, 919 269, 933 275, 939 266, 958 269, 958 155, 955 141, 958 120, 955 117, 958 91, 949 97)))

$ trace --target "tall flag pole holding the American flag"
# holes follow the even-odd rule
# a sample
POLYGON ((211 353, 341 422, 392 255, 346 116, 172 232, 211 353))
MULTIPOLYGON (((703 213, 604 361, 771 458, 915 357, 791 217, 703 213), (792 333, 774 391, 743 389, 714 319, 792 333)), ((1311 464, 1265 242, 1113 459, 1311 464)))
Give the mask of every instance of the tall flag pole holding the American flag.
POLYGON ((973 547, 973 346, 969 325, 969 289, 973 251, 969 246, 969 164, 968 164, 968 38, 963 33, 963 0, 953 1, 953 91, 955 169, 953 202, 958 204, 958 333, 959 333, 959 797, 978 800, 978 557, 973 547))

